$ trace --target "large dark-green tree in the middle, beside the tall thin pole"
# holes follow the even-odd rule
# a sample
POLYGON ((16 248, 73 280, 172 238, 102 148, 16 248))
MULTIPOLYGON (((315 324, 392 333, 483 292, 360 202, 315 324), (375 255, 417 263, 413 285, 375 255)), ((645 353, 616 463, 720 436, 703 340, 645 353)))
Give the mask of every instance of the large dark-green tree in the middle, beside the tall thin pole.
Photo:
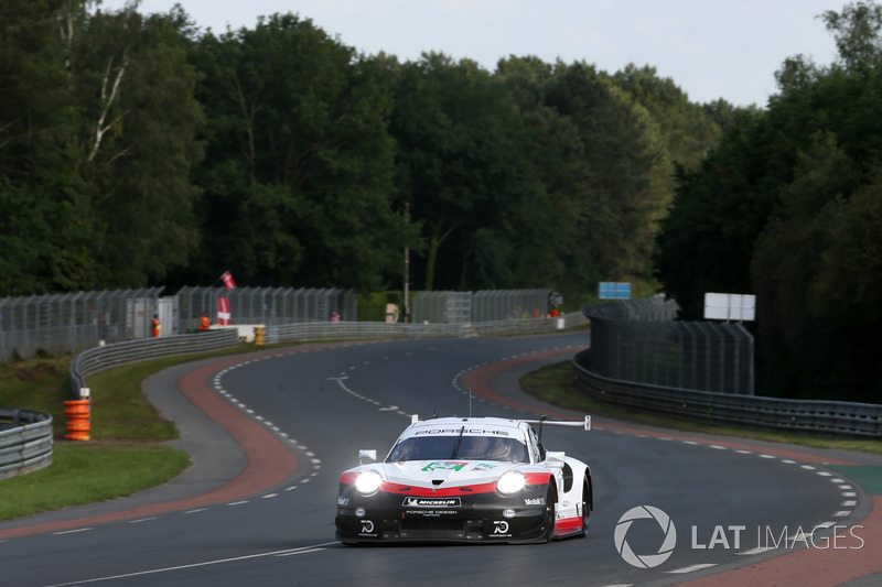
POLYGON ((424 287, 535 282, 547 264, 549 207, 501 80, 474 62, 424 54, 400 68, 390 131, 399 197, 428 244, 415 263, 424 287))

